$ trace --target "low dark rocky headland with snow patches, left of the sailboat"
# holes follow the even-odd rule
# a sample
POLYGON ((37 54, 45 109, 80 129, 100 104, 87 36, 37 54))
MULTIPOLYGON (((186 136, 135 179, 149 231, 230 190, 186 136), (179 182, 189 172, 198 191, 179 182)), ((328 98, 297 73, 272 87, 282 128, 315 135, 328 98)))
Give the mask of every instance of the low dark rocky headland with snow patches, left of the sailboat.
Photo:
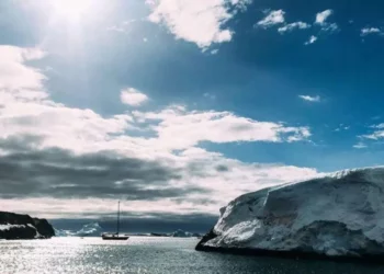
POLYGON ((46 219, 0 212, 0 239, 48 239, 55 230, 46 219))

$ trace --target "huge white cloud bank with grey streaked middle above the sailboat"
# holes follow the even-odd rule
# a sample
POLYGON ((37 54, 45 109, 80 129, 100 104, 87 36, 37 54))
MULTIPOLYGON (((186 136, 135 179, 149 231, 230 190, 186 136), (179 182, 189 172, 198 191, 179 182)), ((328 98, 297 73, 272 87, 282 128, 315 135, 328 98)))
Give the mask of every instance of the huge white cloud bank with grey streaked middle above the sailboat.
POLYGON ((0 47, 4 210, 49 218, 108 215, 120 198, 128 201, 126 210, 144 215, 217 214, 242 193, 318 175, 314 169, 245 163, 199 147, 306 140, 307 127, 177 105, 111 116, 70 107, 50 99, 46 76, 26 64, 44 54, 31 50, 0 47))

